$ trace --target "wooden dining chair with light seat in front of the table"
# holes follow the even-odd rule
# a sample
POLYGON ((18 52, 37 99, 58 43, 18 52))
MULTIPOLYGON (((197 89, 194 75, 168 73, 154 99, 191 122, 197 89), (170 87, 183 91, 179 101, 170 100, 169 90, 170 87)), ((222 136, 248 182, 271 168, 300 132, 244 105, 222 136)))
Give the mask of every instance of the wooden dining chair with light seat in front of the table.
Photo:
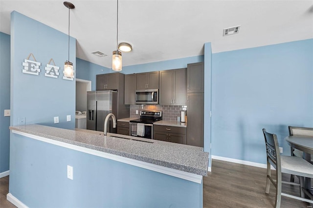
POLYGON ((265 192, 269 193, 270 182, 276 188, 275 208, 280 208, 281 196, 291 197, 293 199, 313 203, 313 200, 305 199, 302 187, 304 187, 304 177, 313 178, 313 165, 303 158, 294 156, 281 156, 276 134, 271 134, 263 128, 263 134, 267 153, 267 181, 265 192), (276 170, 276 179, 270 175, 270 166, 276 170), (300 184, 282 181, 282 173, 297 175, 300 178, 300 184), (282 192, 282 183, 299 186, 300 196, 290 195, 282 192))

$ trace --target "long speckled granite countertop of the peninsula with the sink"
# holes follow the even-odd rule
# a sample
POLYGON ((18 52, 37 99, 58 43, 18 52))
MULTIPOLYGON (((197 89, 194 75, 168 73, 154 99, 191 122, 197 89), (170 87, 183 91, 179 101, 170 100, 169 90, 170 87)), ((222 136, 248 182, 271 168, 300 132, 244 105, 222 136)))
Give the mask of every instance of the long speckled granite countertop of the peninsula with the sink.
POLYGON ((10 126, 10 129, 158 166, 207 176, 209 153, 204 152, 202 147, 110 133, 107 136, 102 136, 98 132, 91 133, 88 132, 90 130, 86 129, 69 130, 45 125, 10 126))

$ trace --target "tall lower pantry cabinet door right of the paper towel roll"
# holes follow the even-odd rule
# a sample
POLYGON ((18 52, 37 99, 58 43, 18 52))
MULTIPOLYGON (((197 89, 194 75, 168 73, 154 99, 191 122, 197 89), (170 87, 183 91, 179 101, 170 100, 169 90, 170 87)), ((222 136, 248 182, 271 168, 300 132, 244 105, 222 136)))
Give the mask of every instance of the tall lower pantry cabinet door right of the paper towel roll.
POLYGON ((203 147, 204 94, 187 94, 187 145, 203 147))

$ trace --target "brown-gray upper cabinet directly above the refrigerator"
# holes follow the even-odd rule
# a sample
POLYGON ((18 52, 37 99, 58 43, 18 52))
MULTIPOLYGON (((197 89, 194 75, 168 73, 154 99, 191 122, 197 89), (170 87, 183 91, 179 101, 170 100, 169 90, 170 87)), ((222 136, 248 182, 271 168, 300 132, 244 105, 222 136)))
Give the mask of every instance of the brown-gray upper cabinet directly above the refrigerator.
POLYGON ((96 90, 117 90, 121 73, 98 74, 96 75, 96 90))

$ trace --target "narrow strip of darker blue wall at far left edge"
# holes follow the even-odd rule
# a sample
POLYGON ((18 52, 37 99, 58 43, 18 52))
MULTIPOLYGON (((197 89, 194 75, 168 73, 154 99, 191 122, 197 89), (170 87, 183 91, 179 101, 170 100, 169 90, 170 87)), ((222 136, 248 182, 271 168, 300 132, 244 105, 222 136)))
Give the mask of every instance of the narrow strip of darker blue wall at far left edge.
POLYGON ((9 170, 10 117, 10 36, 0 32, 0 173, 9 170))

